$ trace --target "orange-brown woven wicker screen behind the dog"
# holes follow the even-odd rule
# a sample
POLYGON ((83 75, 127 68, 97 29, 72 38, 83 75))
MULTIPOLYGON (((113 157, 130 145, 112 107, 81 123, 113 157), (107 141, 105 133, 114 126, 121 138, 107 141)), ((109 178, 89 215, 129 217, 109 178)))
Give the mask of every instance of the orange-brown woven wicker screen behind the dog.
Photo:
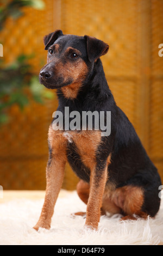
MULTIPOLYGON (((102 57, 106 78, 117 105, 128 115, 163 179, 163 1, 46 0, 45 10, 24 9, 9 19, 0 34, 4 59, 34 53, 39 74, 46 63, 42 38, 55 29, 66 34, 92 35, 110 45, 102 57)), ((17 106, 0 132, 0 184, 4 189, 45 189, 47 131, 57 100, 33 103, 23 114, 17 106)), ((63 187, 74 189, 78 179, 66 166, 63 187)))

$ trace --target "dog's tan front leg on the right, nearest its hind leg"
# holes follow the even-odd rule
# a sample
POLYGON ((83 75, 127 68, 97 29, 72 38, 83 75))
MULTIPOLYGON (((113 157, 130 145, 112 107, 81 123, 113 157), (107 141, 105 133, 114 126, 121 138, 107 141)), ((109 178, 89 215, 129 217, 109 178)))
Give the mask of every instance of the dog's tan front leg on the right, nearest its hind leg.
POLYGON ((106 165, 104 169, 98 169, 95 167, 95 169, 91 171, 90 194, 86 210, 86 228, 96 230, 98 228, 98 222, 101 216, 102 198, 107 176, 108 165, 106 165))

